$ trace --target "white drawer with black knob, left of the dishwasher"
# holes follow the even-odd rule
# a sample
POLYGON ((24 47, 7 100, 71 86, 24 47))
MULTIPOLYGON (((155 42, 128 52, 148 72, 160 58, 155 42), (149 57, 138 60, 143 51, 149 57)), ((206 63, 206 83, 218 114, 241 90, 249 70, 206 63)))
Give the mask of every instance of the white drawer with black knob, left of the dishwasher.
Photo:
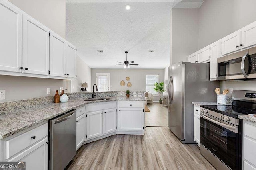
POLYGON ((29 147, 30 145, 36 143, 43 137, 48 135, 48 123, 36 127, 30 131, 22 133, 14 138, 5 140, 5 159, 10 158, 14 154, 20 152, 21 150, 29 147), (34 139, 32 137, 35 137, 34 139))

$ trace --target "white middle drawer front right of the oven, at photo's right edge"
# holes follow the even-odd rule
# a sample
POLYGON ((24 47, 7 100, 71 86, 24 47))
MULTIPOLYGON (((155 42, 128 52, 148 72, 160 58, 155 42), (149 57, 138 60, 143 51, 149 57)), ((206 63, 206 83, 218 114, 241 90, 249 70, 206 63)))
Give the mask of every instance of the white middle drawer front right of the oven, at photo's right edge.
POLYGON ((256 166, 256 141, 244 137, 244 159, 256 166))

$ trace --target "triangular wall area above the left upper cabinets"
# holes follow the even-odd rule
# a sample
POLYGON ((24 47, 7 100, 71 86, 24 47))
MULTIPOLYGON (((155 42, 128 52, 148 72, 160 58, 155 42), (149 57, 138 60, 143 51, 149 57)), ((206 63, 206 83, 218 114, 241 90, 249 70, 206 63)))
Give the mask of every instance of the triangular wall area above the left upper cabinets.
POLYGON ((9 0, 12 4, 65 38, 66 0, 9 0))

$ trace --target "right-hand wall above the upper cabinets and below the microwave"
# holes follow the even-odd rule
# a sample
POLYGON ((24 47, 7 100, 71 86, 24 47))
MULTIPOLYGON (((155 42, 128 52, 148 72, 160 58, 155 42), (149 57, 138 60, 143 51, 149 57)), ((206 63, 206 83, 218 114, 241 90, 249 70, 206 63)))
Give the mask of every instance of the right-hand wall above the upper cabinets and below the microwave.
MULTIPOLYGON (((205 0, 199 8, 198 49, 256 21, 255 6, 256 0, 205 0)), ((220 88, 256 90, 255 84, 256 81, 221 81, 220 88)))

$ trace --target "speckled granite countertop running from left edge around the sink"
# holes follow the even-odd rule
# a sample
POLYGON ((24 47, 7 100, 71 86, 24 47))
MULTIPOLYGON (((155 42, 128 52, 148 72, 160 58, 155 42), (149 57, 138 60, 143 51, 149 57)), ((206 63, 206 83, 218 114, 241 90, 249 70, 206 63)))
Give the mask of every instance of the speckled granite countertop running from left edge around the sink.
POLYGON ((144 101, 144 97, 110 97, 110 100, 84 101, 82 99, 69 100, 66 103, 51 103, 44 106, 26 109, 0 115, 0 139, 28 129, 34 125, 48 121, 62 113, 77 109, 90 103, 110 102, 117 100, 144 101))

